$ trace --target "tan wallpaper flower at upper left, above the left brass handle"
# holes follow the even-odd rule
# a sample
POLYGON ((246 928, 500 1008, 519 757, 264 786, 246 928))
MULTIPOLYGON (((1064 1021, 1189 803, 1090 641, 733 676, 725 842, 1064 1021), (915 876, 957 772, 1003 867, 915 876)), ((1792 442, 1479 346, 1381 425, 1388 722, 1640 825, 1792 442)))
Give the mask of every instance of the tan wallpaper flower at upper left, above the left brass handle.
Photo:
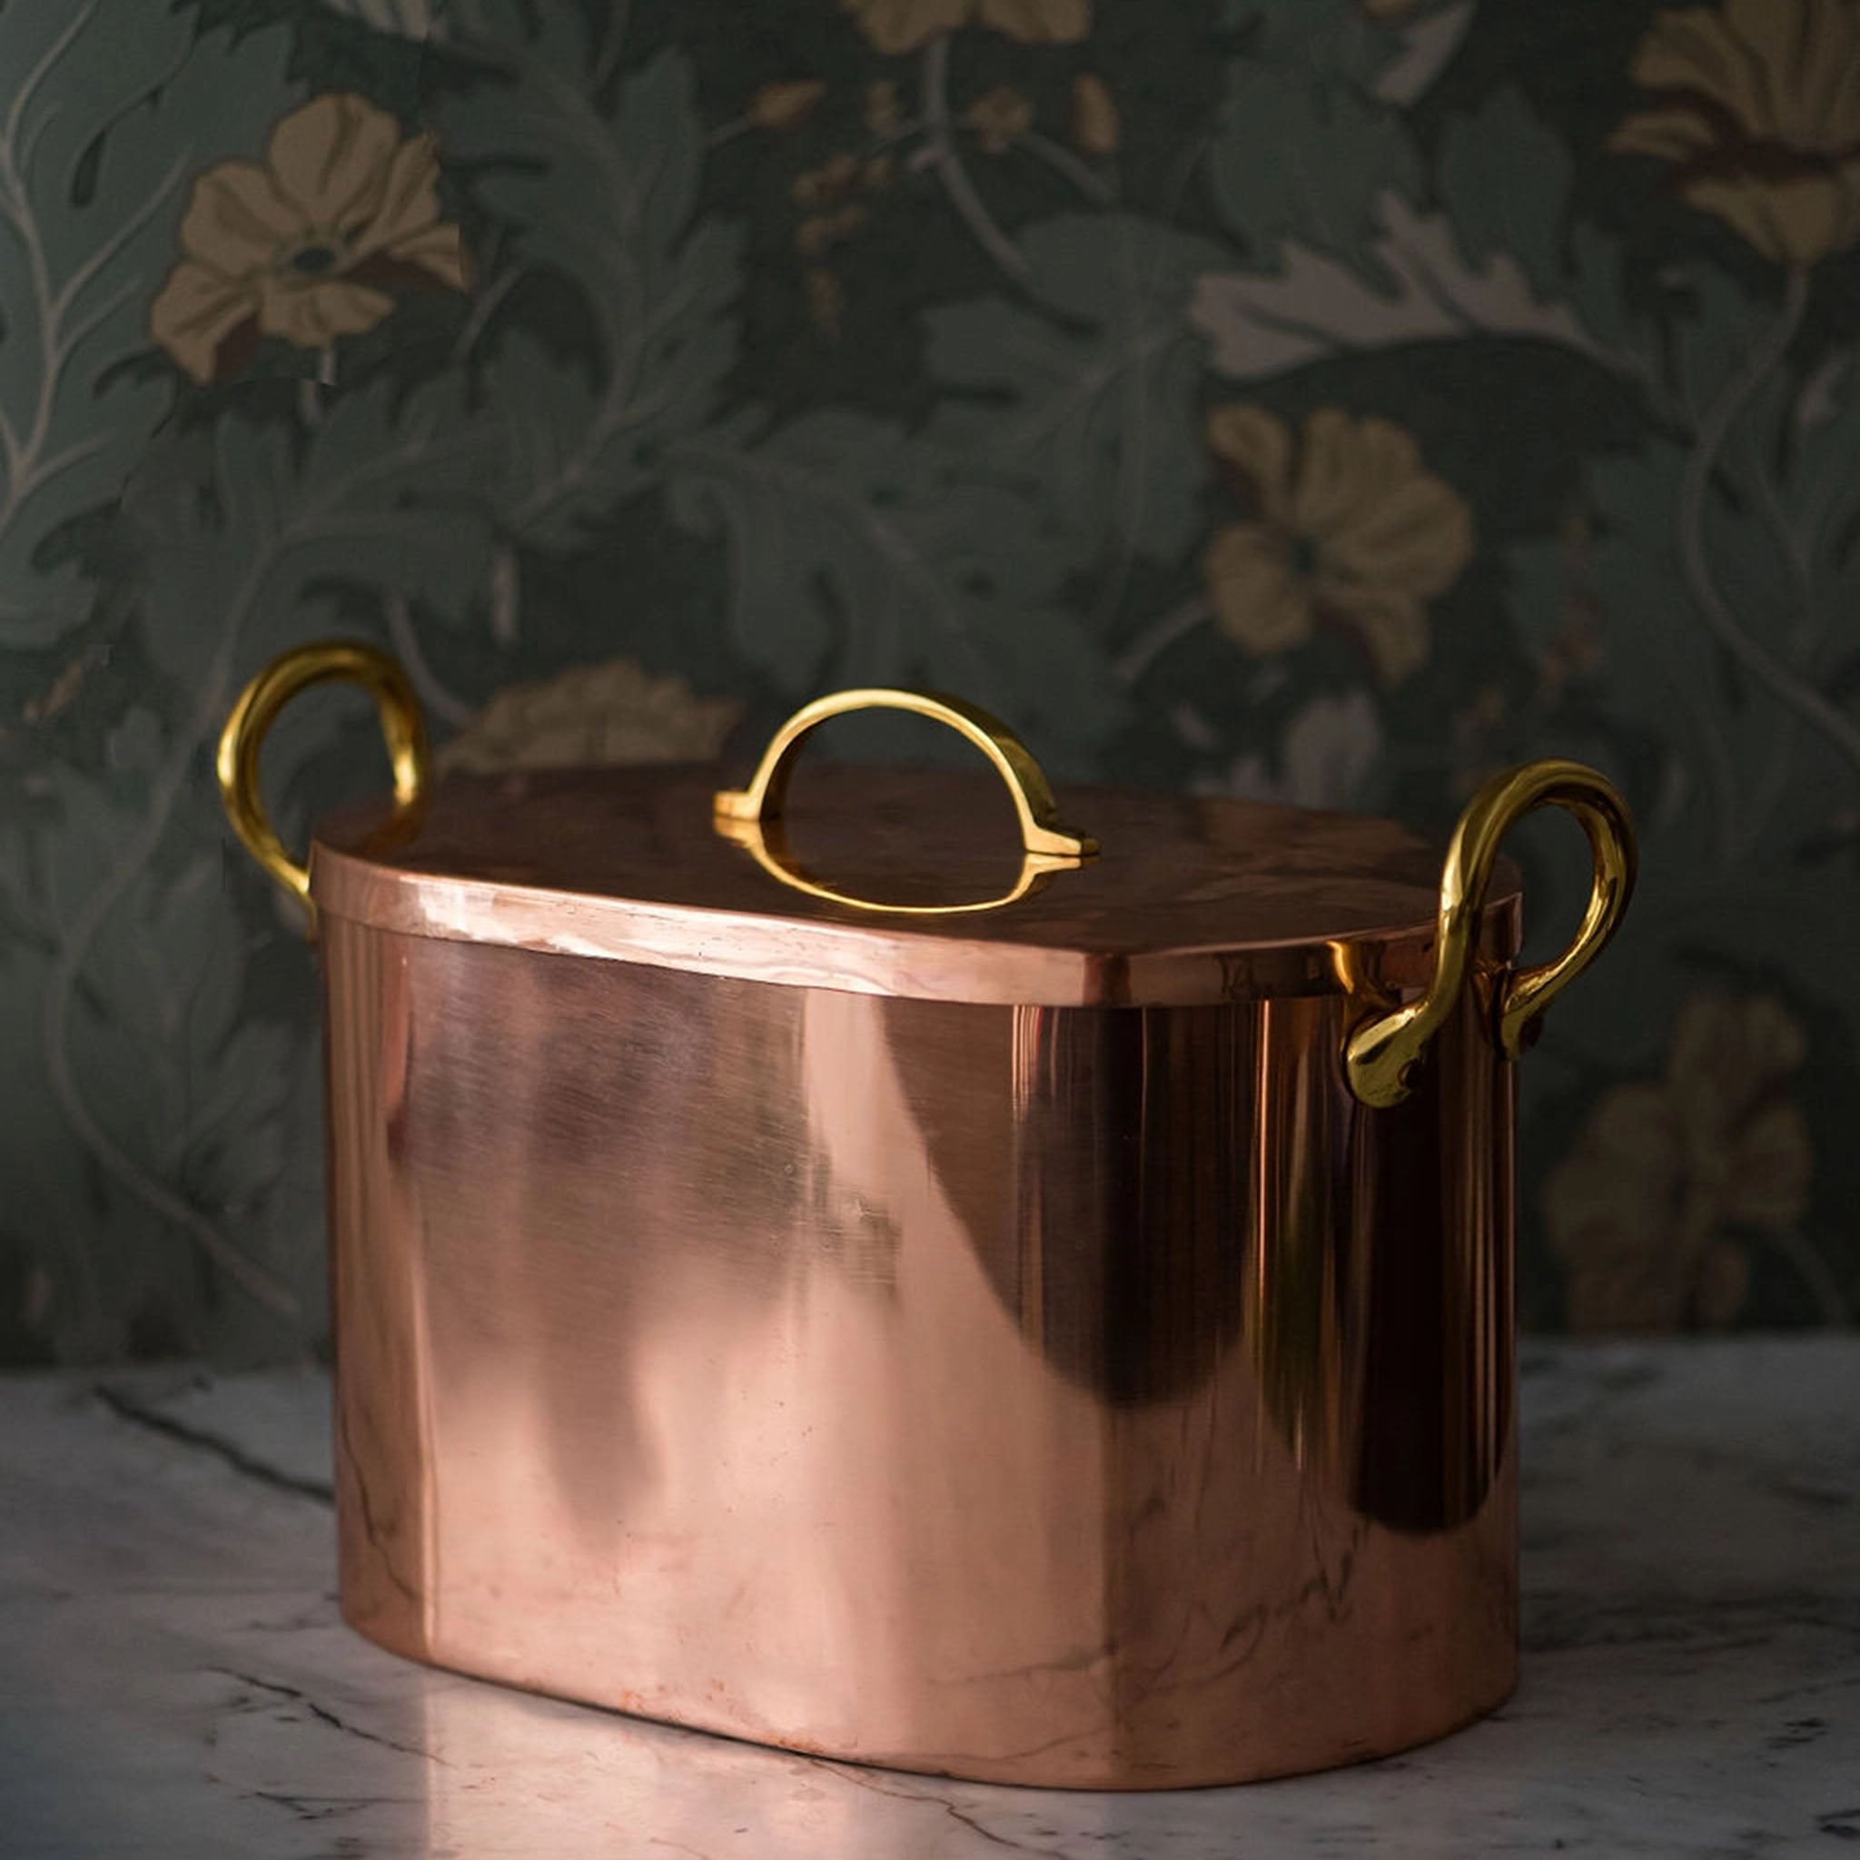
POLYGON ((184 257, 149 333, 195 381, 236 335, 322 350, 372 329, 394 288, 465 288, 459 229, 439 210, 432 136, 361 97, 326 95, 272 130, 266 160, 221 162, 193 182, 184 257))

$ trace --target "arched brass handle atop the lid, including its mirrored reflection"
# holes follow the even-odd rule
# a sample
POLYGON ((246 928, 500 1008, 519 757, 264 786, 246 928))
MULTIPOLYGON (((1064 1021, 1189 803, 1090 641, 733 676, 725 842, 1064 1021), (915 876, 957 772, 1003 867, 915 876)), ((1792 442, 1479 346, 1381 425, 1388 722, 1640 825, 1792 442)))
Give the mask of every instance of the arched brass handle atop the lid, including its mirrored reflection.
POLYGON ((746 789, 724 789, 718 792, 714 824, 718 833, 748 848, 763 870, 779 878, 785 885, 792 885, 796 891, 826 898, 831 904, 850 904, 865 911, 891 911, 906 917, 949 917, 958 911, 999 910, 1003 904, 1012 904, 1016 898, 1025 898, 1030 891, 1038 891, 1053 872, 1097 857, 1096 839, 1086 833, 1073 833, 1060 824, 1058 804, 1053 800, 1045 774, 1032 759, 1027 744, 1001 718, 962 698, 949 698, 941 692, 893 690, 889 686, 861 686, 833 692, 828 698, 817 698, 813 703, 802 705, 770 738, 750 785, 746 789), (854 711, 908 711, 911 716, 926 716, 932 722, 947 724, 993 763, 1001 779, 1008 785, 1008 796, 1021 824, 1021 876, 1010 891, 978 904, 880 904, 874 898, 848 897, 843 891, 817 884, 787 857, 787 850, 781 844, 779 820, 787 800, 794 751, 800 748, 802 738, 828 722, 828 718, 846 716, 854 711))

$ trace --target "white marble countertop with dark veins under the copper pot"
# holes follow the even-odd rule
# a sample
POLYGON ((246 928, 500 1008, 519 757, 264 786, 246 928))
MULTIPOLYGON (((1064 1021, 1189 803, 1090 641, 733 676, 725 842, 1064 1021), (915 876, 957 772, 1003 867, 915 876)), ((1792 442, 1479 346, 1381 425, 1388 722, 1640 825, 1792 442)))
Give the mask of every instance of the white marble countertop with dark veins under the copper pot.
POLYGON ((1521 1388, 1503 1711, 1324 1776, 1066 1795, 394 1659, 337 1618, 318 1376, 15 1376, 0 1854, 1860 1854, 1860 1337, 1533 1345, 1521 1388))

